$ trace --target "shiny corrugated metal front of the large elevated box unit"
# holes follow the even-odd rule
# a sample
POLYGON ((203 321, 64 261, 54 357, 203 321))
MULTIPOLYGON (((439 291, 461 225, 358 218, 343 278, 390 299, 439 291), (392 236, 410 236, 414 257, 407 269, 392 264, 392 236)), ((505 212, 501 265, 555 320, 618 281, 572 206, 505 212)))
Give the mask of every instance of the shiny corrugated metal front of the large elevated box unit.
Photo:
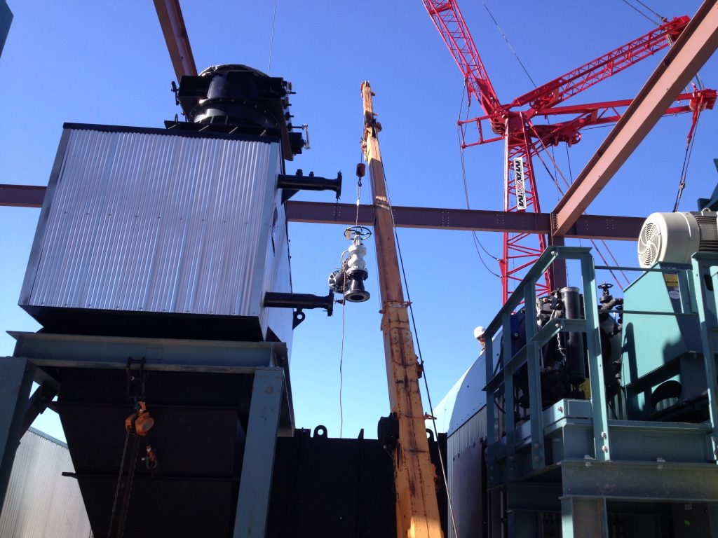
POLYGON ((278 166, 277 143, 66 130, 21 305, 258 316, 278 166))

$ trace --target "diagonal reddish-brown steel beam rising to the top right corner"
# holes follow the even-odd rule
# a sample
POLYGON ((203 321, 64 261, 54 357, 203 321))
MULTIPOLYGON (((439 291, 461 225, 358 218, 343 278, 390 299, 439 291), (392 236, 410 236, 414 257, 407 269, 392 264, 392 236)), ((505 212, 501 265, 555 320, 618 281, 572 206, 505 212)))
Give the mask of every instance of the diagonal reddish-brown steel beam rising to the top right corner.
POLYGON ((718 48, 718 0, 707 0, 554 209, 565 235, 718 48))

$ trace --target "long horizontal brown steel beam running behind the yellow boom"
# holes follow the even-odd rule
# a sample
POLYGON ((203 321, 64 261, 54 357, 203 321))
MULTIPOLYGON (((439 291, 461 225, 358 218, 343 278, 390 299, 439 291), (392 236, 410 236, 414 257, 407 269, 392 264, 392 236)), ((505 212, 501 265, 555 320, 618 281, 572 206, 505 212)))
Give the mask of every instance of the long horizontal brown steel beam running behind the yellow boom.
MULTIPOLYGON (((45 187, 0 184, 0 206, 42 207, 44 197, 45 187)), ((286 216, 291 222, 353 225, 356 214, 355 204, 286 202, 286 216)), ((394 206, 393 214, 396 226, 404 228, 540 234, 551 231, 551 216, 548 213, 394 206)), ((359 224, 373 224, 371 206, 359 206, 359 224)), ((634 241, 638 238, 641 225, 643 218, 640 217, 582 215, 566 235, 574 238, 634 241)))

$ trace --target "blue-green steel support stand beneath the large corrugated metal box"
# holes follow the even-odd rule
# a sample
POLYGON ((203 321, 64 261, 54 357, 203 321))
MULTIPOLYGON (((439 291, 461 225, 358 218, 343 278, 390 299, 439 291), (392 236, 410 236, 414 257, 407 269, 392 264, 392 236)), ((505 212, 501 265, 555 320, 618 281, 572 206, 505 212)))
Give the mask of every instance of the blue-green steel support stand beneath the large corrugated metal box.
POLYGON ((11 334, 15 356, 0 357, 0 510, 27 417, 56 388, 44 368, 125 369, 126 357, 144 357, 147 370, 253 374, 233 536, 264 537, 276 438, 294 432, 285 344, 11 334), (30 397, 33 380, 41 386, 30 397))

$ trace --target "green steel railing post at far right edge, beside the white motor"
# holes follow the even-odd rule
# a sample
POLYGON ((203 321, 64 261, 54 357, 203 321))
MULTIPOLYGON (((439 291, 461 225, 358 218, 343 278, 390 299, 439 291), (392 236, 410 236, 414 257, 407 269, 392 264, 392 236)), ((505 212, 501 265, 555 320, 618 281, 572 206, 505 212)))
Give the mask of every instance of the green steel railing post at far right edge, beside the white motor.
POLYGON ((718 334, 718 315, 716 312, 716 290, 718 278, 711 274, 711 268, 718 265, 718 256, 715 254, 694 254, 693 279, 696 290, 696 306, 698 319, 701 324, 701 343, 703 344, 703 364, 706 371, 708 392, 708 410, 711 419, 711 448, 713 458, 718 460, 718 383, 716 381, 716 359, 714 339, 718 334), (709 291, 707 279, 712 283, 709 291))

